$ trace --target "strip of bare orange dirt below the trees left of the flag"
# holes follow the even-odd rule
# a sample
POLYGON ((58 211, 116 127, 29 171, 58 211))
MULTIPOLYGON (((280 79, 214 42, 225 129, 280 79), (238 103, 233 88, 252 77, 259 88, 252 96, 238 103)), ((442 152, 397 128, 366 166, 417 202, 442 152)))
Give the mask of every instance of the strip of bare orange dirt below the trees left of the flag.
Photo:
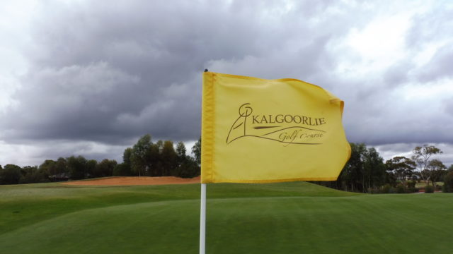
POLYGON ((96 179, 88 181, 70 181, 62 183, 65 185, 76 186, 138 186, 138 185, 164 185, 164 184, 187 184, 200 183, 200 176, 193 179, 182 179, 175 176, 118 176, 105 179, 96 179))

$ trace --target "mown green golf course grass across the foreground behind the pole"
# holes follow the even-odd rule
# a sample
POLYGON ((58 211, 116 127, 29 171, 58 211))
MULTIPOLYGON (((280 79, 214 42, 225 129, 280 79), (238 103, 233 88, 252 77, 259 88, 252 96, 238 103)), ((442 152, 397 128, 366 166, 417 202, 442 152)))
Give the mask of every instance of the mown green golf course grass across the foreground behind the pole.
MULTIPOLYGON (((197 253, 200 185, 0 186, 1 253, 197 253)), ((207 186, 207 253, 449 253, 453 195, 207 186)))

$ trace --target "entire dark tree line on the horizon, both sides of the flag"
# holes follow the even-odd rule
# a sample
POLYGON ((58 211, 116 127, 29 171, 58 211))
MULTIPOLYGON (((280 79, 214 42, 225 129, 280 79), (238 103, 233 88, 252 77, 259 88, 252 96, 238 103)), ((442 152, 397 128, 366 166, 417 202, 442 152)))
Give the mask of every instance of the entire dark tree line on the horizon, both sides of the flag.
MULTIPOLYGON (((433 145, 415 147, 410 158, 397 156, 386 162, 374 147, 364 143, 350 143, 351 157, 336 181, 315 183, 343 191, 362 193, 405 193, 418 191, 415 183, 453 192, 453 165, 447 169, 435 155, 442 150, 433 145)), ((188 155, 184 143, 176 146, 171 140, 153 143, 151 135, 143 135, 122 155, 122 163, 114 159, 97 162, 83 156, 46 159, 40 166, 0 166, 0 184, 41 183, 90 179, 105 176, 178 176, 191 178, 200 175, 201 138, 192 147, 194 157, 188 155)))

